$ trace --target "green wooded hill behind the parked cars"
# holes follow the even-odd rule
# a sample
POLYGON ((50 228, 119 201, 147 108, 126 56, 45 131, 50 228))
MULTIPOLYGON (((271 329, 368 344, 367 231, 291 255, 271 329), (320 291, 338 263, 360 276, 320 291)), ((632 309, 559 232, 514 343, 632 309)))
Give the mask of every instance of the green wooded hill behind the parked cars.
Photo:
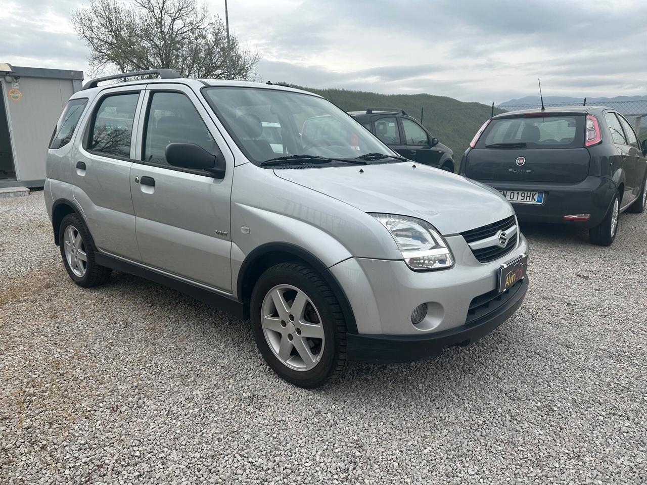
MULTIPOLYGON (((312 89, 294 85, 292 87, 316 92, 344 111, 360 111, 369 107, 400 108, 420 120, 421 109, 424 109, 422 124, 441 143, 454 150, 456 166, 474 133, 490 117, 492 109, 481 103, 464 103, 447 96, 431 94, 378 94, 347 89, 312 89)), ((495 109, 494 113, 502 111, 495 109)))

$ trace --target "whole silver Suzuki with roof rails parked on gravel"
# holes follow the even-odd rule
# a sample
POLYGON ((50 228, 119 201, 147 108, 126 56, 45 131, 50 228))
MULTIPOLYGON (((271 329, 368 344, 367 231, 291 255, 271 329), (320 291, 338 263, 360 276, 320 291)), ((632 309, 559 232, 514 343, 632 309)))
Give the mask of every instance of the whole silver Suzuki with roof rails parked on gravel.
POLYGON ((528 287, 527 242, 497 191, 271 83, 164 69, 90 81, 52 135, 45 200, 77 285, 114 269, 250 319, 269 366, 302 387, 348 361, 466 345, 528 287))

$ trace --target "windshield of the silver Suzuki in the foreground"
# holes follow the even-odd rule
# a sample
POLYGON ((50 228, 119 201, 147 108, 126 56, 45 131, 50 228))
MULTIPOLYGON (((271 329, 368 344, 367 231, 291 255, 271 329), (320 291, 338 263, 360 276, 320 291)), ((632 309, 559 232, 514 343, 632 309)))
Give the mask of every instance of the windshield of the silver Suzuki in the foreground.
POLYGON ((210 87, 203 92, 237 145, 257 165, 294 155, 398 156, 351 116, 318 96, 247 87, 210 87))

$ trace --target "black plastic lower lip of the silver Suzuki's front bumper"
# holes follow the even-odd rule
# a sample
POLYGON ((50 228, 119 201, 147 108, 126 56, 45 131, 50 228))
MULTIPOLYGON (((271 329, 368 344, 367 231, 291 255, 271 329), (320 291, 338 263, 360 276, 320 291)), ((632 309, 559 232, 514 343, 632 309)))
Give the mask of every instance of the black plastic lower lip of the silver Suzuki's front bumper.
POLYGON ((410 362, 439 354, 445 347, 467 345, 483 338, 506 321, 523 303, 528 290, 526 276, 517 288, 510 288, 510 295, 492 311, 460 327, 424 335, 367 335, 347 334, 347 352, 350 360, 363 362, 410 362), (514 291, 514 293, 513 293, 514 291))

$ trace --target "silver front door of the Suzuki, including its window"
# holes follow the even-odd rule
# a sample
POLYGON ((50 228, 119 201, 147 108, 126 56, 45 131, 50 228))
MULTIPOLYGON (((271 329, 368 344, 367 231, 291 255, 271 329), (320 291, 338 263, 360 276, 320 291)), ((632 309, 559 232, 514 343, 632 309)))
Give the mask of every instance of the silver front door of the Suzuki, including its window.
POLYGON ((184 85, 151 85, 131 168, 137 242, 153 268, 232 291, 230 193, 234 159, 208 112, 184 85), (193 143, 227 161, 225 178, 166 162, 166 146, 193 143))

